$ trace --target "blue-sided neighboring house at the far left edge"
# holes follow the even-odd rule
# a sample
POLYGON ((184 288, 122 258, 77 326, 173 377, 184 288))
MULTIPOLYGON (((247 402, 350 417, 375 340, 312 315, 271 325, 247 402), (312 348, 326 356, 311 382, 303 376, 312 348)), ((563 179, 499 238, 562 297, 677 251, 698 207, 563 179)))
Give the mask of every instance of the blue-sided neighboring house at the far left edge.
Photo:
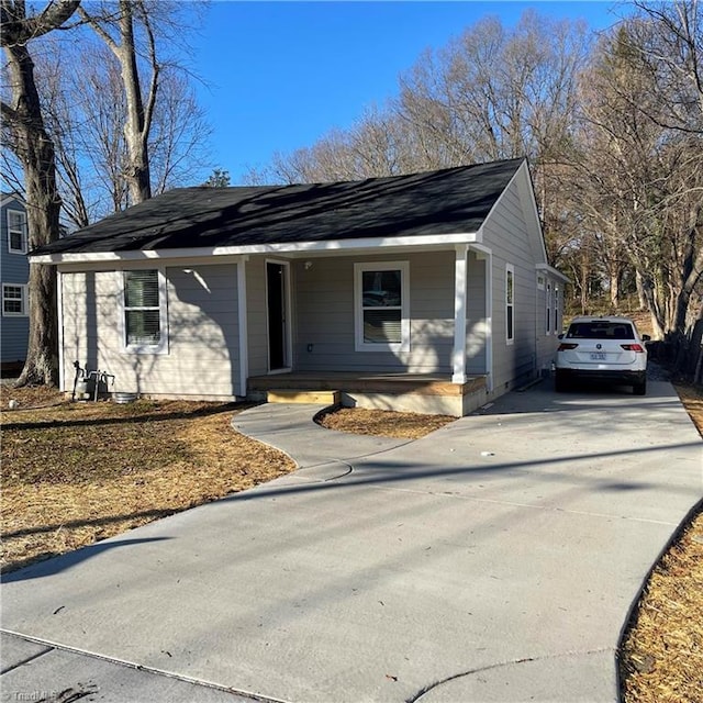
POLYGON ((2 369, 24 364, 30 334, 26 210, 14 193, 0 194, 0 279, 2 316, 0 350, 2 369))

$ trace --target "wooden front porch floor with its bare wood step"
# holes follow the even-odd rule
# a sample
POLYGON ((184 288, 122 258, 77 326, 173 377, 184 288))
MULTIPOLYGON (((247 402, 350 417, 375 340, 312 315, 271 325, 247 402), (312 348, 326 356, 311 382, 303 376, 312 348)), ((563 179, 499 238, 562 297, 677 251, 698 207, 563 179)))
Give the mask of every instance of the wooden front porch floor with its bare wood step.
POLYGON ((306 390, 343 393, 383 393, 391 395, 462 397, 486 389, 486 377, 476 376, 466 383, 453 383, 449 373, 368 373, 347 371, 293 371, 253 376, 250 391, 306 390))

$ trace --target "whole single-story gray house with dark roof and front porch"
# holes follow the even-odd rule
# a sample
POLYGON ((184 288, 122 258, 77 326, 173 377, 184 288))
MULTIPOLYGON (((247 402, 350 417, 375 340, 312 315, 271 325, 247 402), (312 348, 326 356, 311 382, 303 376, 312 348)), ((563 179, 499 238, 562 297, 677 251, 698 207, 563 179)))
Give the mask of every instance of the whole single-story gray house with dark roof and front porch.
POLYGON ((42 247, 62 388, 343 392, 461 415, 548 368, 566 278, 525 159, 356 182, 183 188, 42 247))

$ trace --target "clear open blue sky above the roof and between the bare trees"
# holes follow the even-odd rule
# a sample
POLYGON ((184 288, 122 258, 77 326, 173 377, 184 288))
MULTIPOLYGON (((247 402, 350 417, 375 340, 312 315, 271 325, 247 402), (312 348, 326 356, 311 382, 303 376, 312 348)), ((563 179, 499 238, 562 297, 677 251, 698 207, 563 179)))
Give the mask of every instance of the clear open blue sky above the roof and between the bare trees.
POLYGON ((528 8, 583 19, 594 30, 617 21, 617 5, 598 1, 215 0, 191 42, 193 68, 205 81, 198 92, 213 127, 213 160, 237 185, 248 166, 310 146, 352 125, 365 107, 382 104, 423 49, 444 46, 486 15, 511 26, 528 8))

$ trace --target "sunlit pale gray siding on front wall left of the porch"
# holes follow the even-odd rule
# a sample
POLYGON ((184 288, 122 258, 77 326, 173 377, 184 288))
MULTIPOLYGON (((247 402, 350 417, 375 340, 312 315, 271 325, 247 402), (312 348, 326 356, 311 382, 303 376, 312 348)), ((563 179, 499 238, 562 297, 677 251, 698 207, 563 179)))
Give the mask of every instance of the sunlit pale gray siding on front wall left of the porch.
POLYGON ((133 354, 120 335, 116 271, 62 274, 64 390, 74 360, 114 373, 114 390, 241 395, 236 266, 168 267, 168 353, 133 354))

